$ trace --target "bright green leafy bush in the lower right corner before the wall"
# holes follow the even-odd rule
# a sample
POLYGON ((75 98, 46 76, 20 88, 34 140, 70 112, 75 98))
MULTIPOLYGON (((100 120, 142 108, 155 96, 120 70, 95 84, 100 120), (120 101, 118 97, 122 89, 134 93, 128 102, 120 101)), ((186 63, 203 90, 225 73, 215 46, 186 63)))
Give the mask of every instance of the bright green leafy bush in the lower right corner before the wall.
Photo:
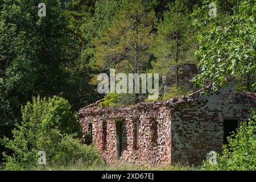
POLYGON ((222 147, 222 154, 217 155, 218 163, 209 164, 205 160, 203 170, 255 170, 256 169, 256 114, 253 119, 243 122, 228 138, 228 144, 222 147), (232 138, 233 137, 233 138, 232 138))

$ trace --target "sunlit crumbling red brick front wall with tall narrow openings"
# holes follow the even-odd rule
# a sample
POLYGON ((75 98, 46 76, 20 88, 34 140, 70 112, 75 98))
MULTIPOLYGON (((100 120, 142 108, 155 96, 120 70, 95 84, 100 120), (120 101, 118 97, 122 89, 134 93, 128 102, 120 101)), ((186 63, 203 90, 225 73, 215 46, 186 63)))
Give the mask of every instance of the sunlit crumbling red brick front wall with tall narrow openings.
POLYGON ((148 102, 134 106, 106 108, 92 105, 82 109, 79 116, 84 134, 89 130, 88 123, 92 122, 93 143, 107 162, 171 163, 171 113, 166 104, 148 102), (123 123, 123 139, 122 155, 118 158, 115 122, 120 120, 123 123), (139 121, 138 148, 137 121, 139 121), (106 136, 103 131, 104 122, 107 125, 106 136), (154 136, 156 136, 156 145, 152 144, 152 140, 155 140, 154 136))

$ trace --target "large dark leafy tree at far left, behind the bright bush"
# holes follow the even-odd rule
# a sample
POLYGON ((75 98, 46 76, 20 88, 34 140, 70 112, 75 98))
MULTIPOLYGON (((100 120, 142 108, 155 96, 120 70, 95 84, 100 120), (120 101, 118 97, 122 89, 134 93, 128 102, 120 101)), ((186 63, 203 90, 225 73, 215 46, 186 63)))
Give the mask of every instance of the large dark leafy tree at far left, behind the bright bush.
POLYGON ((60 90, 65 24, 61 1, 45 2, 47 16, 40 18, 40 1, 1 1, 0 137, 10 136, 20 118, 20 106, 33 95, 60 90))

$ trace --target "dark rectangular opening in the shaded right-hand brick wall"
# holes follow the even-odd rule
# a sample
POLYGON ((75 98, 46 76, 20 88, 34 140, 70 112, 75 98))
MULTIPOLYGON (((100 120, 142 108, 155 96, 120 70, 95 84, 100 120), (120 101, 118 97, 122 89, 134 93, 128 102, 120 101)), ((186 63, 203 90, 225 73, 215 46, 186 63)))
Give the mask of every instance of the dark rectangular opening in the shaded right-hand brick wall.
POLYGON ((224 127, 224 140, 223 144, 228 144, 228 137, 232 135, 232 131, 236 132, 238 128, 239 119, 224 119, 223 127, 224 127))

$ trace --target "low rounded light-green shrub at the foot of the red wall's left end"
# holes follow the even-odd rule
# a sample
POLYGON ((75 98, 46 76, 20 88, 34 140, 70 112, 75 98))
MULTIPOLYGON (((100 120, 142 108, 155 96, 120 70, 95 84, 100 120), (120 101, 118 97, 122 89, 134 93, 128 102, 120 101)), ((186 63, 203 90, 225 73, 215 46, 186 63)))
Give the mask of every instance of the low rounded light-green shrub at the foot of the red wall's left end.
POLYGON ((60 134, 52 129, 51 134, 40 138, 37 146, 46 151, 49 166, 68 166, 81 161, 84 166, 101 162, 101 157, 92 145, 81 144, 81 140, 72 135, 60 134))

